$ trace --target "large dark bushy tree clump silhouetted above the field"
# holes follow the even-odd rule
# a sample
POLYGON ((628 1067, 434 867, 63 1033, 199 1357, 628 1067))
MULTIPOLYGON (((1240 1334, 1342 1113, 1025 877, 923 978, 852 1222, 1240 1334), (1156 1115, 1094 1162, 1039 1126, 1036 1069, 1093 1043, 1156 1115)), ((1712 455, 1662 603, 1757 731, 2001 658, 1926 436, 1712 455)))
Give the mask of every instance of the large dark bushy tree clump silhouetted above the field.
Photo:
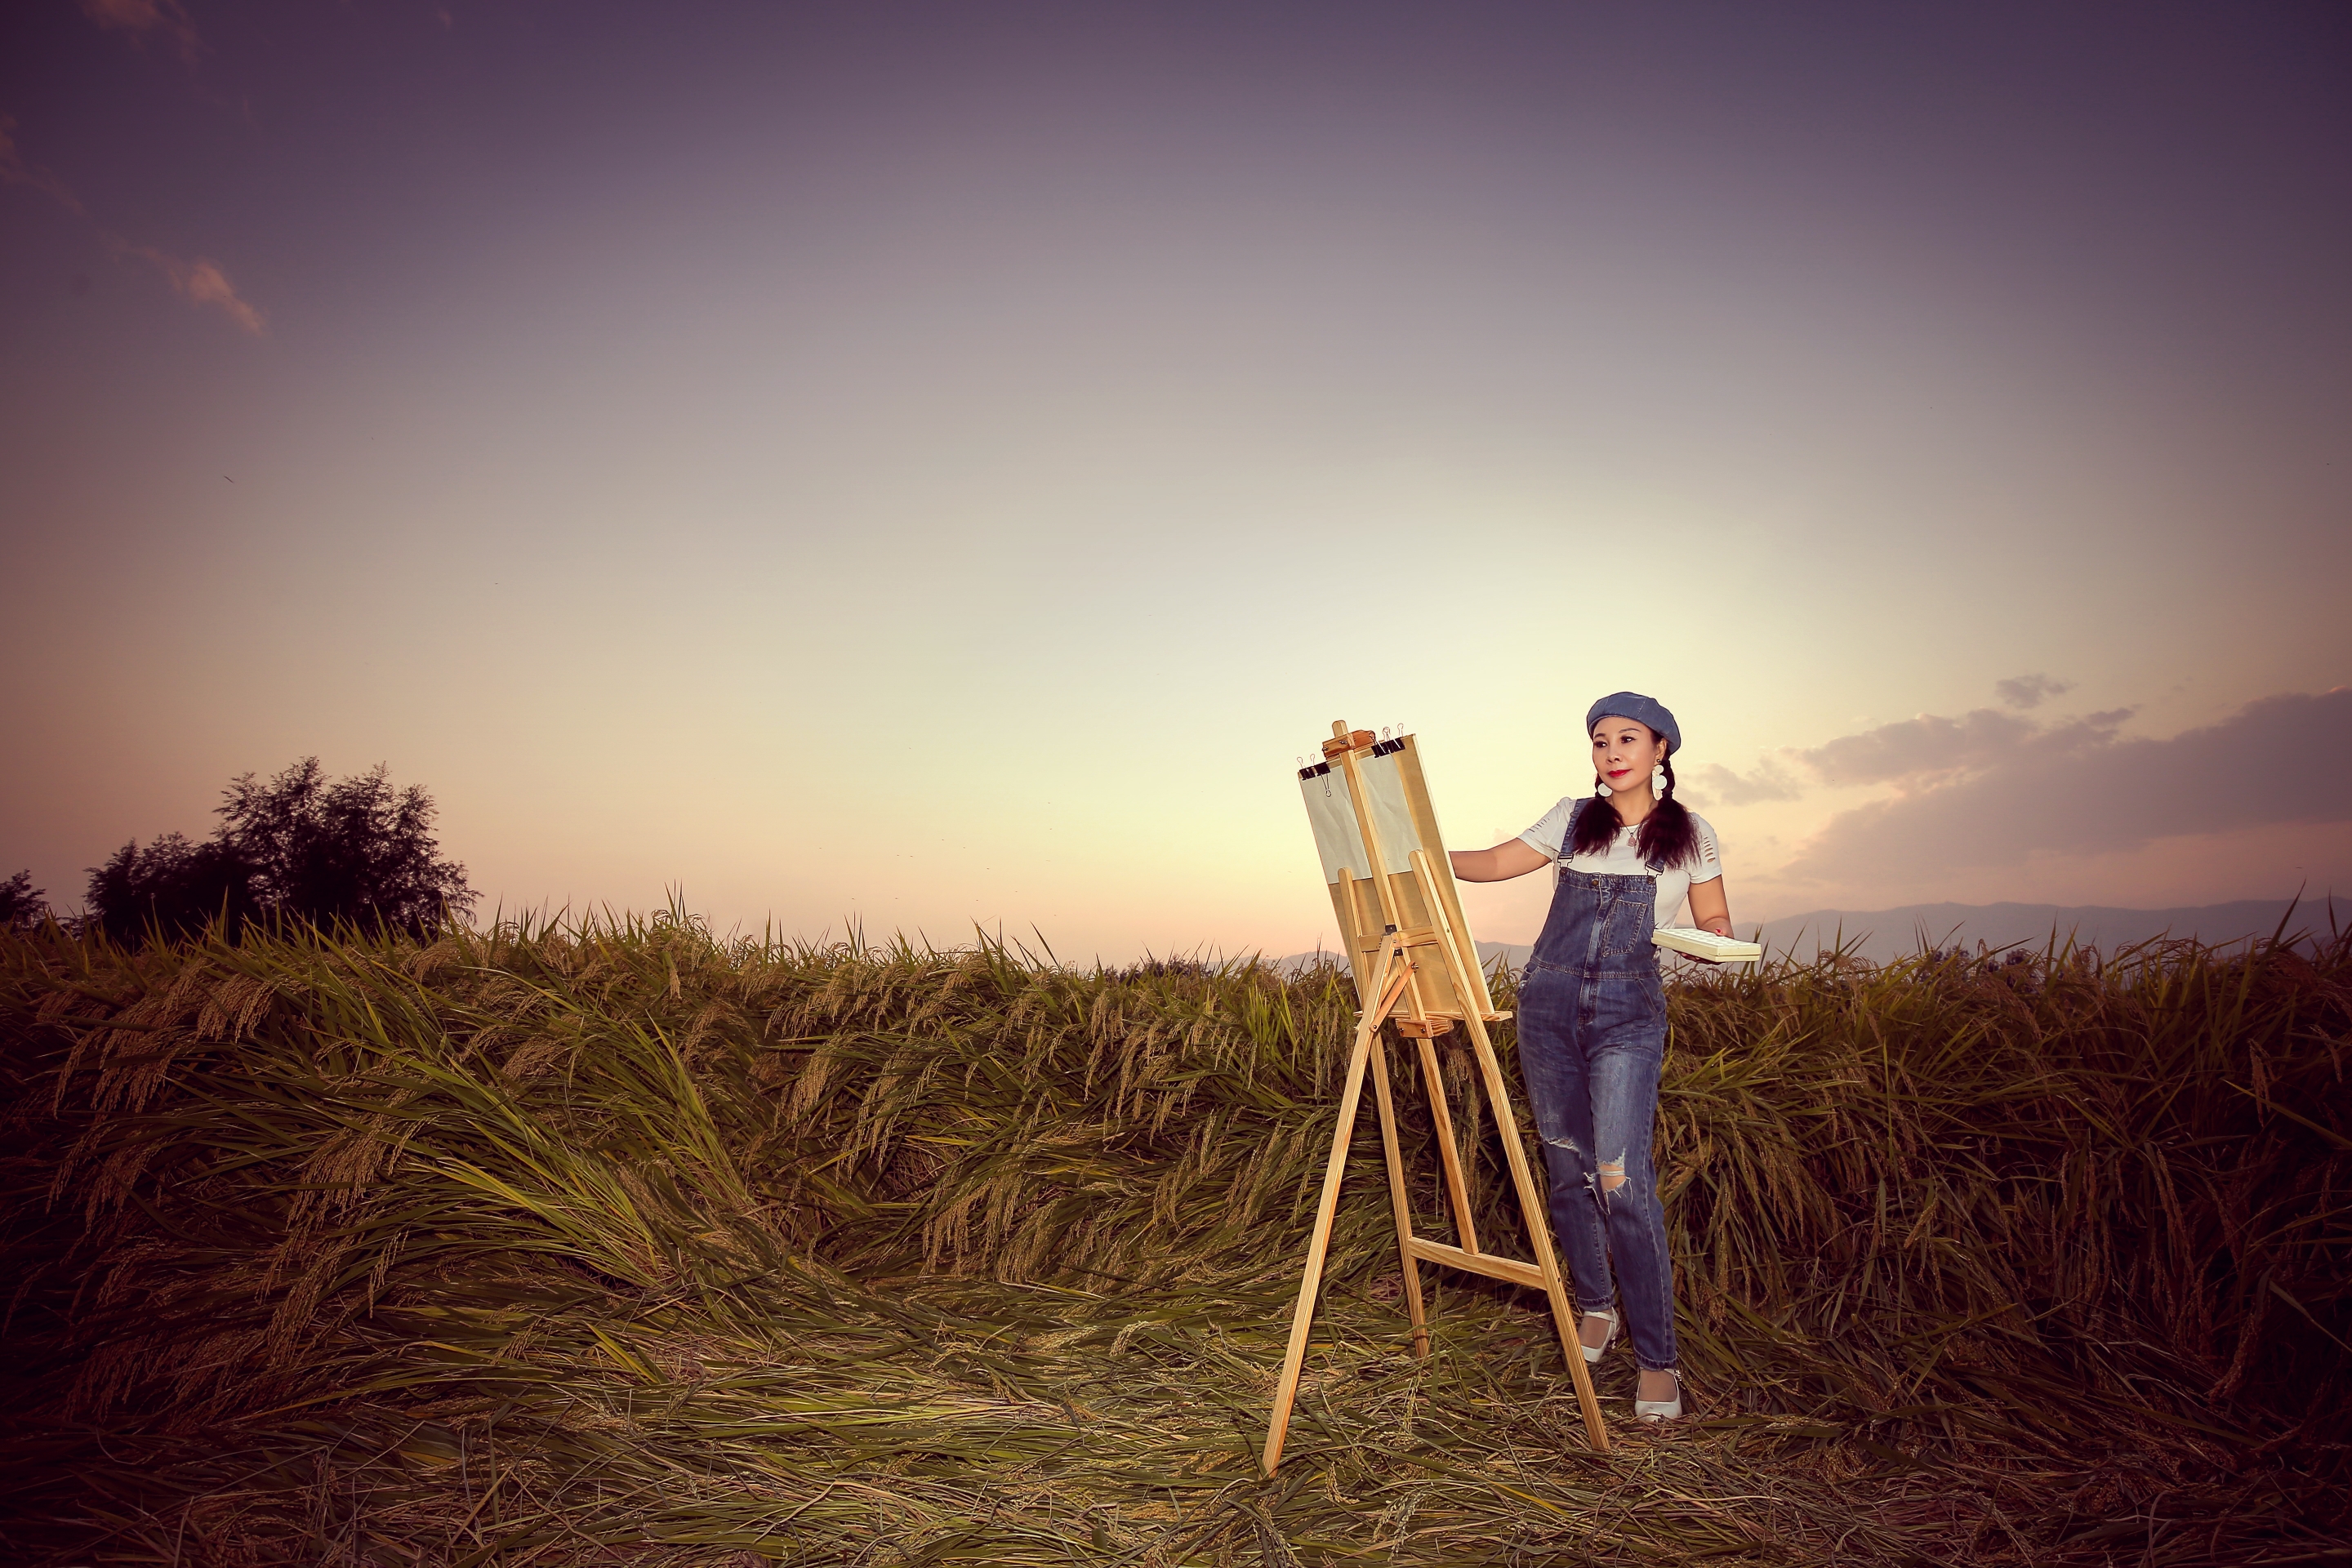
POLYGON ((134 839, 94 867, 94 922, 125 943, 209 922, 235 938, 254 917, 423 933, 473 907, 466 867, 433 839, 433 797, 393 790, 383 764, 329 780, 303 757, 268 783, 240 776, 223 799, 209 842, 134 839))

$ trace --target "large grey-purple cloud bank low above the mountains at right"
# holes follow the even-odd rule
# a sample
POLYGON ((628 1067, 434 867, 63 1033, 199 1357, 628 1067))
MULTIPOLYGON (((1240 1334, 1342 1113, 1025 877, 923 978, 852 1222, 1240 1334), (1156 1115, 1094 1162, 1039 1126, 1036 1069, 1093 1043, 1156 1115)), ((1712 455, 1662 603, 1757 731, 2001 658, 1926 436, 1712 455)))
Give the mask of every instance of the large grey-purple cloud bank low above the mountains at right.
MULTIPOLYGON (((2122 712, 2037 729, 2006 715, 1889 724, 1849 752, 1863 773, 1907 780, 1896 799, 1842 811, 1785 867, 1790 879, 1886 882, 2034 851, 2129 851, 2176 835, 2352 820, 2352 686, 2249 703, 2169 741, 2119 738, 2122 712), (1976 722, 2004 719, 2002 726, 1976 722), (1973 722, 1973 724, 1971 724, 1973 722), (1889 731, 1910 731, 1889 738, 1889 731), (1962 736, 1962 738, 1955 738, 1962 736), (1912 748, 1905 752, 1903 748, 1912 748), (1940 750, 1938 750, 1940 748, 1940 750), (1893 771, 1907 757, 1966 757, 1966 771, 1893 771)), ((1832 741, 1823 752, 1846 745, 1832 741)), ((1962 764, 1952 764, 1962 766, 1962 764)))

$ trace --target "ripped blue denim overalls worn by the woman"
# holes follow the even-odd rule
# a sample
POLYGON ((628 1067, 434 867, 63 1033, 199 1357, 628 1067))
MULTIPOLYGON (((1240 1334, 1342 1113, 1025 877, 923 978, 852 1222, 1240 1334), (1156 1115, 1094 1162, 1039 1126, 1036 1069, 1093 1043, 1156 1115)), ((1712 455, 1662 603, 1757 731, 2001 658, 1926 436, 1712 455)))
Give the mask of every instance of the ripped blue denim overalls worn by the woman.
MULTIPOLYGON (((1573 816, 1566 837, 1576 842, 1573 816)), ((1564 844, 1552 912, 1519 978, 1519 1074, 1552 1175, 1552 1234, 1576 1279, 1576 1307, 1606 1312, 1623 1298, 1635 1361, 1668 1371, 1675 1265, 1649 1164, 1665 1060, 1665 985, 1649 943, 1658 882, 1571 872, 1566 856, 1564 844), (1602 1187, 1602 1164, 1625 1168, 1613 1192, 1602 1187)), ((1661 870, 1653 860, 1651 872, 1661 870)))

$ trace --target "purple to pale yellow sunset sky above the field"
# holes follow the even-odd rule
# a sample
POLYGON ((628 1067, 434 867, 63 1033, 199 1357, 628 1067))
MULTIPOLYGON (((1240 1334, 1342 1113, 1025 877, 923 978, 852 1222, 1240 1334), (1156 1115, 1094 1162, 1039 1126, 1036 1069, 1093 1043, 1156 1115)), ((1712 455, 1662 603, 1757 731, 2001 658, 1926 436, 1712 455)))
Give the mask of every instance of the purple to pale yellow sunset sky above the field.
POLYGON ((64 907, 318 755, 482 917, 1291 952, 1331 719, 1472 846, 1621 686, 1743 926, 2352 893, 2352 9, 7 9, 64 907))

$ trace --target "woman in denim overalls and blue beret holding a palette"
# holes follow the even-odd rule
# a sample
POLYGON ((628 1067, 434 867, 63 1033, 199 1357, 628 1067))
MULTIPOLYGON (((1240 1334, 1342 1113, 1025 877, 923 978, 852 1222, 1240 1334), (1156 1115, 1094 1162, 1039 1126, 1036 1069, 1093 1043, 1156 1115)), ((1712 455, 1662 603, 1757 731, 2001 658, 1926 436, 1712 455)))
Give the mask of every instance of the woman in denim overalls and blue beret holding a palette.
POLYGON ((1519 1072, 1552 1173, 1552 1232, 1576 1279, 1585 1361, 1599 1361, 1623 1324, 1642 1363, 1635 1415, 1675 1420, 1675 1267, 1649 1164, 1665 987, 1649 933, 1689 900, 1691 924, 1731 936, 1731 905, 1715 830, 1675 799, 1675 715, 1618 691, 1592 703, 1585 731, 1590 797, 1562 799, 1517 839, 1451 860, 1465 882, 1559 865, 1552 912, 1519 976, 1519 1072))

